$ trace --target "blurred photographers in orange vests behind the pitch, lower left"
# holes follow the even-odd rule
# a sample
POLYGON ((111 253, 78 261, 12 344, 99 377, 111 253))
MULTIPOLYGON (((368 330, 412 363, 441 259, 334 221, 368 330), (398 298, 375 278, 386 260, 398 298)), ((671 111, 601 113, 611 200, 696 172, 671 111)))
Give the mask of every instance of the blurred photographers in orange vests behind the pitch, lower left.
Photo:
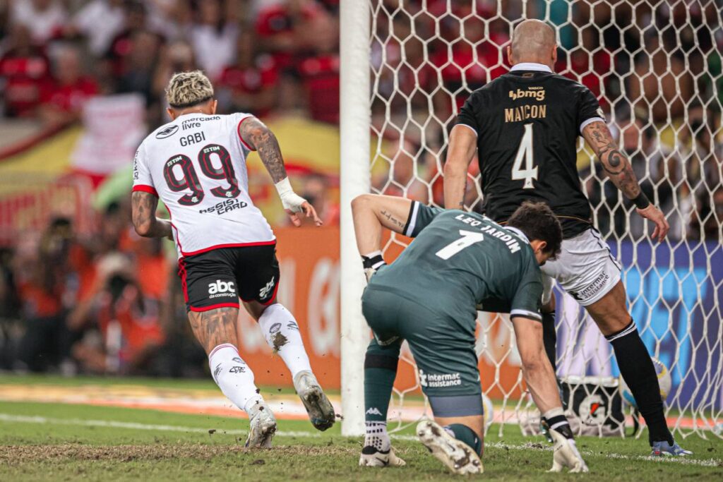
POLYGON ((164 241, 137 236, 128 212, 112 202, 93 236, 56 217, 0 250, 0 369, 202 373, 164 241))

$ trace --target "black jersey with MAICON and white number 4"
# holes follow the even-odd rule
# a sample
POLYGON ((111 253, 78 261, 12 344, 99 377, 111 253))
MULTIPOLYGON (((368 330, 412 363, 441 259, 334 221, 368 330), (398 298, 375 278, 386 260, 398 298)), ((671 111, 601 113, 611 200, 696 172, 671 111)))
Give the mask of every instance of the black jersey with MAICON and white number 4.
POLYGON ((518 64, 472 92, 458 124, 477 134, 484 213, 504 223, 523 201, 544 201, 565 238, 590 228, 576 145, 583 127, 602 117, 587 87, 541 64, 518 64))

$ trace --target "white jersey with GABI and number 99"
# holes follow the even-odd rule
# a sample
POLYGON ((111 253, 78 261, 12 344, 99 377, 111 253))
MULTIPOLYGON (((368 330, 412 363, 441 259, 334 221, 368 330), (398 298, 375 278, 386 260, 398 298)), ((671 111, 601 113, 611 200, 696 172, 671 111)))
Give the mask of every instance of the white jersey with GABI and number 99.
POLYGON ((135 155, 133 191, 159 197, 171 213, 179 258, 217 248, 275 244, 249 197, 249 114, 189 113, 148 135, 135 155))

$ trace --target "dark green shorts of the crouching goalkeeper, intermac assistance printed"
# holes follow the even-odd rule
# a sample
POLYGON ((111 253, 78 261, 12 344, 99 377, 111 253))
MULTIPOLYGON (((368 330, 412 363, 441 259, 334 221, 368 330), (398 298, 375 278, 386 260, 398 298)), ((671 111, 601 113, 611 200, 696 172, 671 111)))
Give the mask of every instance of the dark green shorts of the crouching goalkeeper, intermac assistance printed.
POLYGON ((367 353, 407 340, 435 416, 482 415, 474 319, 455 319, 443 307, 432 310, 373 284, 361 309, 376 338, 367 353))

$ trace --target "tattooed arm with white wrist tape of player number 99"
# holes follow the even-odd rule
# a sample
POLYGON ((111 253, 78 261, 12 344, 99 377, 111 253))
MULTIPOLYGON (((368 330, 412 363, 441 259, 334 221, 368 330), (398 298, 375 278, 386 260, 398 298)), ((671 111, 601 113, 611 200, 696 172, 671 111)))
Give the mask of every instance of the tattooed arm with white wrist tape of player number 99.
POLYGON ((286 167, 283 165, 281 147, 273 132, 259 119, 249 117, 241 122, 239 135, 247 145, 259 153, 261 162, 264 163, 266 170, 271 175, 276 191, 281 197, 283 209, 288 213, 291 222, 295 226, 300 226, 301 219, 297 213, 303 212, 307 218, 312 218, 317 226, 322 225, 322 220, 317 216, 314 207, 306 199, 296 194, 291 187, 291 182, 288 181, 286 175, 286 167))

